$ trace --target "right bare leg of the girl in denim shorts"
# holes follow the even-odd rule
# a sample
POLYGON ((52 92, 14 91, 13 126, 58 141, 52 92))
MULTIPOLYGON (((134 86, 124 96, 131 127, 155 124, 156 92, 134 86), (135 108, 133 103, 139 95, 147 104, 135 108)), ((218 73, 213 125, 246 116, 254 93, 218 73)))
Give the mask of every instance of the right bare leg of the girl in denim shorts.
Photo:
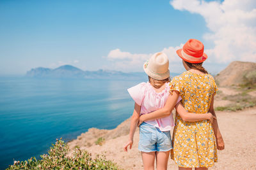
POLYGON ((166 170, 170 151, 156 152, 156 169, 166 170))

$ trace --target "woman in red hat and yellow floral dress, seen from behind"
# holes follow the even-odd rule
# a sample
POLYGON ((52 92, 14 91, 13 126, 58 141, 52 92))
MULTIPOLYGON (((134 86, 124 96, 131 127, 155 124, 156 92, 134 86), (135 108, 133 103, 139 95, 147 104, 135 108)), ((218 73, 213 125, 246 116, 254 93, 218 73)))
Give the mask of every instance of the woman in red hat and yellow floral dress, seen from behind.
MULTIPOLYGON (((164 108, 142 115, 140 122, 170 115, 174 108, 172 101, 177 100, 179 95, 188 112, 203 114, 209 111, 216 116, 213 103, 217 87, 214 78, 202 67, 207 59, 204 45, 197 39, 189 39, 182 49, 177 50, 177 54, 182 58, 187 71, 173 78, 170 83, 172 96, 168 98, 164 108)), ((180 170, 192 167, 199 170, 214 166, 214 162, 218 160, 216 149, 223 150, 224 146, 216 119, 212 124, 209 120, 184 122, 179 114, 175 115, 172 159, 180 170)))

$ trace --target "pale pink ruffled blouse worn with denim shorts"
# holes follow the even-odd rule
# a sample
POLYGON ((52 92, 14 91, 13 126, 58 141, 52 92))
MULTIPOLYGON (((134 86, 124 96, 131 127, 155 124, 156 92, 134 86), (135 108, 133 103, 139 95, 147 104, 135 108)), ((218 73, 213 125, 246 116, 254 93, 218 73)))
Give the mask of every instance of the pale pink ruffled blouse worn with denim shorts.
MULTIPOLYGON (((140 115, 143 115, 164 107, 169 96, 170 84, 165 83, 165 89, 162 92, 156 92, 149 82, 140 83, 127 90, 135 103, 141 106, 140 115)), ((181 97, 179 96, 177 103, 180 100, 181 97)), ((172 115, 149 120, 146 123, 158 127, 160 131, 170 131, 174 126, 172 115)))

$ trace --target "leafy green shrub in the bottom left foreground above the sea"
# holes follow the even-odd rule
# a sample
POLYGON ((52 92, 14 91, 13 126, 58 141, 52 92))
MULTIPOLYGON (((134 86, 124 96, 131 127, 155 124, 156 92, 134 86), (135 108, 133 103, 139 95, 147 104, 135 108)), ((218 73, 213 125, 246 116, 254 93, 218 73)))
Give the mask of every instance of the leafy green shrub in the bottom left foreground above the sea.
POLYGON ((49 150, 48 154, 40 155, 25 161, 14 161, 7 169, 119 169, 115 163, 99 156, 92 158, 92 154, 76 148, 72 157, 67 157, 68 147, 61 139, 49 150))

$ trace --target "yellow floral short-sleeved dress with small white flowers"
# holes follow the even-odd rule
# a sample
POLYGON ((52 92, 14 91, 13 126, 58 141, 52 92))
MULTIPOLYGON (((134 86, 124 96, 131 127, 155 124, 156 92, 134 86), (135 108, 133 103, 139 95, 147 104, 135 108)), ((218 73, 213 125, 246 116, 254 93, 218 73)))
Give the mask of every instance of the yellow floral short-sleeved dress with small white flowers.
MULTIPOLYGON (((173 78, 171 90, 177 90, 184 108, 193 113, 207 113, 216 94, 216 83, 210 74, 186 71, 173 78)), ((209 120, 184 122, 175 115, 171 157, 179 167, 211 167, 217 162, 214 131, 209 120)))

